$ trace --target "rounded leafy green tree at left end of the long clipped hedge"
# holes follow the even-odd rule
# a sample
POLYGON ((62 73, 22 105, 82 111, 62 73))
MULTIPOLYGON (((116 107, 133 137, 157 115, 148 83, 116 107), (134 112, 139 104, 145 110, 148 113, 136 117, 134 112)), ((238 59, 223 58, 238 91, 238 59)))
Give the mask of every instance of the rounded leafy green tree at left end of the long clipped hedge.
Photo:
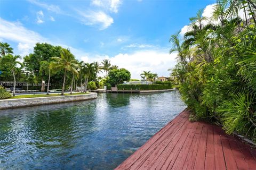
POLYGON ((108 82, 115 86, 117 84, 121 84, 125 81, 130 81, 131 73, 126 69, 114 69, 109 72, 109 80, 108 82))

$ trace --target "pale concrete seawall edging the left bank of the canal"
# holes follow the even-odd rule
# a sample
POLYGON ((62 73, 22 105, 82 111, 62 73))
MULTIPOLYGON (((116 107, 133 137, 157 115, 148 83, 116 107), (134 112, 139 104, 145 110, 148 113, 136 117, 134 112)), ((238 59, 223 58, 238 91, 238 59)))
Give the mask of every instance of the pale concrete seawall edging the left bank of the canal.
POLYGON ((0 100, 0 110, 29 107, 38 105, 49 105, 57 103, 66 103, 72 101, 82 101, 97 98, 98 95, 95 92, 85 95, 73 95, 73 96, 53 96, 53 97, 35 97, 35 98, 21 98, 21 99, 5 99, 0 100))

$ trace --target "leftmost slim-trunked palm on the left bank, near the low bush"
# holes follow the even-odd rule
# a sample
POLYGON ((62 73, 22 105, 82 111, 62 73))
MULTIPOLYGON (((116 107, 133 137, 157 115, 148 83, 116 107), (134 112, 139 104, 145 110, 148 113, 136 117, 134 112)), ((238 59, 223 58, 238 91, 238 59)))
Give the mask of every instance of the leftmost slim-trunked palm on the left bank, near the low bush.
POLYGON ((13 80, 14 80, 14 84, 13 84, 13 96, 15 96, 15 87, 16 87, 16 79, 15 79, 15 69, 17 68, 17 64, 19 64, 21 67, 23 67, 23 64, 19 61, 17 61, 19 58, 21 58, 20 55, 4 55, 2 58, 2 64, 6 64, 9 67, 9 70, 12 72, 13 75, 13 80))

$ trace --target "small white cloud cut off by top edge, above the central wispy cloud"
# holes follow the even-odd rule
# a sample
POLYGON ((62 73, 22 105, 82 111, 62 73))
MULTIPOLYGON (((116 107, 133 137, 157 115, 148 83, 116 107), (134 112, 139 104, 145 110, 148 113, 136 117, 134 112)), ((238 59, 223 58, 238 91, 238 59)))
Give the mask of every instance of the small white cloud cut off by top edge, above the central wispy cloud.
POLYGON ((120 0, 92 0, 92 5, 104 8, 107 11, 117 13, 118 8, 121 5, 120 0))

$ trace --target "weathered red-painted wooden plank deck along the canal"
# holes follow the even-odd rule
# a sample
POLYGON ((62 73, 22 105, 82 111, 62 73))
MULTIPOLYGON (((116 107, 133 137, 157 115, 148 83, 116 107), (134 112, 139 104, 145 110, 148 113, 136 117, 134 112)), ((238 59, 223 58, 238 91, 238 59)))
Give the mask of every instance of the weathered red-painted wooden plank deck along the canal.
POLYGON ((188 117, 180 113, 116 169, 256 169, 256 150, 188 117))

